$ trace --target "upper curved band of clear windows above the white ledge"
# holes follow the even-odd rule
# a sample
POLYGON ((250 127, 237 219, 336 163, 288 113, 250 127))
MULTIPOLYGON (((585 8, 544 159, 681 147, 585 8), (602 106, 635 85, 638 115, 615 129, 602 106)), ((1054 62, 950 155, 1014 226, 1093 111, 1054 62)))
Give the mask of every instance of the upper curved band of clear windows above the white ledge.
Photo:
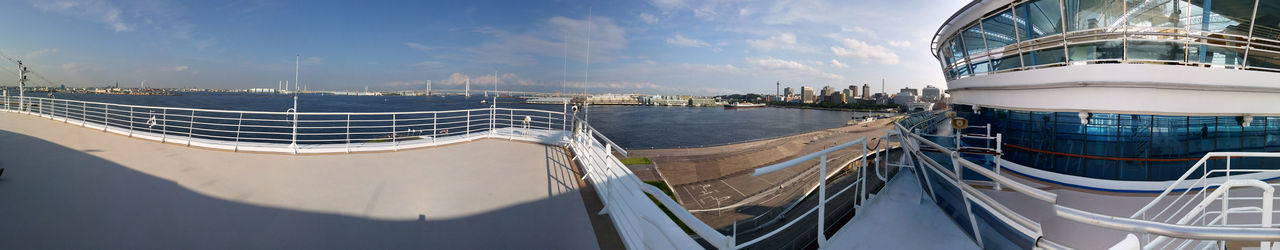
POLYGON ((1089 63, 1280 72, 1280 1, 1029 0, 940 37, 947 79, 1089 63))

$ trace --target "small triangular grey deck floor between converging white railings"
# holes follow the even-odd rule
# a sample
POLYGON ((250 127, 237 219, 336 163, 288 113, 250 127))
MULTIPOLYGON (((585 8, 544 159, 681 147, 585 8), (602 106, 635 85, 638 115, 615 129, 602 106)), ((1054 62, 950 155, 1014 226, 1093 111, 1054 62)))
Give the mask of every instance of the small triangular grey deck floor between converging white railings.
POLYGON ((978 249, 932 200, 908 169, 827 241, 828 249, 978 249))

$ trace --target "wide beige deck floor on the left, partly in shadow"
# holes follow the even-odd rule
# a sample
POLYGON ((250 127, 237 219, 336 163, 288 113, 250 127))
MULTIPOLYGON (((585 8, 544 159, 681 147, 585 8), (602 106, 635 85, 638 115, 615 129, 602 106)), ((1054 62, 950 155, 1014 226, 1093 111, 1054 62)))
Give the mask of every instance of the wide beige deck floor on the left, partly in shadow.
POLYGON ((506 140, 232 153, 0 113, 0 249, 595 249, 570 162, 506 140))

